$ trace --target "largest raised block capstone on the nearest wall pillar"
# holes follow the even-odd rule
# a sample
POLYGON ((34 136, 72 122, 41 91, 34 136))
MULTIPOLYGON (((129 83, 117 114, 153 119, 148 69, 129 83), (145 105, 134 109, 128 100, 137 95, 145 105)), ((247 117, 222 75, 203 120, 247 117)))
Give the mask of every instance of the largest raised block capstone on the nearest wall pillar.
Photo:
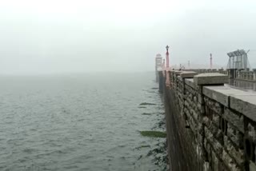
POLYGON ((228 82, 228 75, 225 74, 206 73, 194 76, 195 85, 222 85, 228 82))

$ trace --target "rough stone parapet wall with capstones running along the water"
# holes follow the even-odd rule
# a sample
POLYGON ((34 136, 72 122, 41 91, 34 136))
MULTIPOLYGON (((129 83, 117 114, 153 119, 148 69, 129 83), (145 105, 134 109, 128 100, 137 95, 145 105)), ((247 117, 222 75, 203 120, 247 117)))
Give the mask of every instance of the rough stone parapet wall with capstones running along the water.
POLYGON ((163 92, 171 169, 256 170, 256 93, 224 85, 225 74, 169 75, 163 92))

